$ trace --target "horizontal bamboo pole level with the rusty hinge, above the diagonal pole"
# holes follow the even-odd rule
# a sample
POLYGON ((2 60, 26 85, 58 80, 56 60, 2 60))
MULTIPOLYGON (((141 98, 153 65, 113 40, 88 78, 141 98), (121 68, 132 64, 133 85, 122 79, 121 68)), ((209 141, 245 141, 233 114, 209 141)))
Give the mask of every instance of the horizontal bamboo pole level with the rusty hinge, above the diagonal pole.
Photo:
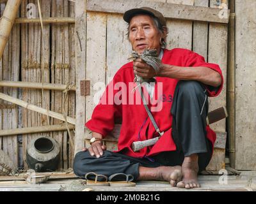
POLYGON ((56 90, 64 91, 68 89, 70 91, 76 91, 76 87, 67 87, 64 84, 42 84, 37 82, 11 82, 11 81, 0 81, 0 87, 13 87, 13 88, 24 88, 24 89, 47 89, 47 90, 56 90))

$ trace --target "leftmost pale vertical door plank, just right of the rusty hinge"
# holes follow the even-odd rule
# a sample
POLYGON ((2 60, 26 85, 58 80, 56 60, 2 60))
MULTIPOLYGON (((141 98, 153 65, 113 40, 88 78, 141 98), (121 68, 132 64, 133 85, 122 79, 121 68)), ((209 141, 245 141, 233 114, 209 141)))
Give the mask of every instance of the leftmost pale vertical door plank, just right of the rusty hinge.
MULTIPOLYGON (((93 100, 99 90, 97 84, 101 85, 103 90, 106 86, 107 19, 106 13, 87 13, 86 77, 90 79, 91 94, 86 96, 86 121, 92 117, 93 108, 99 101, 99 98, 97 102, 93 100)), ((88 129, 86 135, 90 135, 88 129)), ((86 146, 88 145, 86 143, 86 146)))

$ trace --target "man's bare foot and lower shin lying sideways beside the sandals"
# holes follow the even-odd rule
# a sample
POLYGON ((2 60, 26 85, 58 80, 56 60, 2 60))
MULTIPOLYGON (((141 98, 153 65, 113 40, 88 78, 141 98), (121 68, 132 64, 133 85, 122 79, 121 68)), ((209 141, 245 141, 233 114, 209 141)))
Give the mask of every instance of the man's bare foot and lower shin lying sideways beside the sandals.
POLYGON ((181 166, 159 166, 156 168, 140 166, 138 180, 165 180, 174 187, 181 178, 181 166))

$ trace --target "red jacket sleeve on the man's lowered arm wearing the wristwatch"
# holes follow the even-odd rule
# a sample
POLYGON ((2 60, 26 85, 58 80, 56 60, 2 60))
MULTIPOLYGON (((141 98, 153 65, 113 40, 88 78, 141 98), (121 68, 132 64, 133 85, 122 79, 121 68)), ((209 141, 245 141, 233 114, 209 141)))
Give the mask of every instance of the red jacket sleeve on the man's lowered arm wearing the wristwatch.
POLYGON ((113 89, 115 83, 118 81, 117 75, 111 80, 102 94, 100 101, 95 106, 92 119, 86 122, 86 128, 93 132, 100 133, 103 138, 111 132, 115 126, 115 118, 121 117, 122 110, 120 105, 114 103, 114 96, 118 90, 113 89))

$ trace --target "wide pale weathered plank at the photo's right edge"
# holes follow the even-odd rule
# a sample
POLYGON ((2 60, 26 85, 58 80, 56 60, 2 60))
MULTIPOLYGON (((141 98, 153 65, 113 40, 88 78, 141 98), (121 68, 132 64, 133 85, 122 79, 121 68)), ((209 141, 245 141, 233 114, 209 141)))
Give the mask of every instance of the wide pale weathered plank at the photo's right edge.
POLYGON ((256 170, 256 1, 236 0, 236 162, 256 170))

